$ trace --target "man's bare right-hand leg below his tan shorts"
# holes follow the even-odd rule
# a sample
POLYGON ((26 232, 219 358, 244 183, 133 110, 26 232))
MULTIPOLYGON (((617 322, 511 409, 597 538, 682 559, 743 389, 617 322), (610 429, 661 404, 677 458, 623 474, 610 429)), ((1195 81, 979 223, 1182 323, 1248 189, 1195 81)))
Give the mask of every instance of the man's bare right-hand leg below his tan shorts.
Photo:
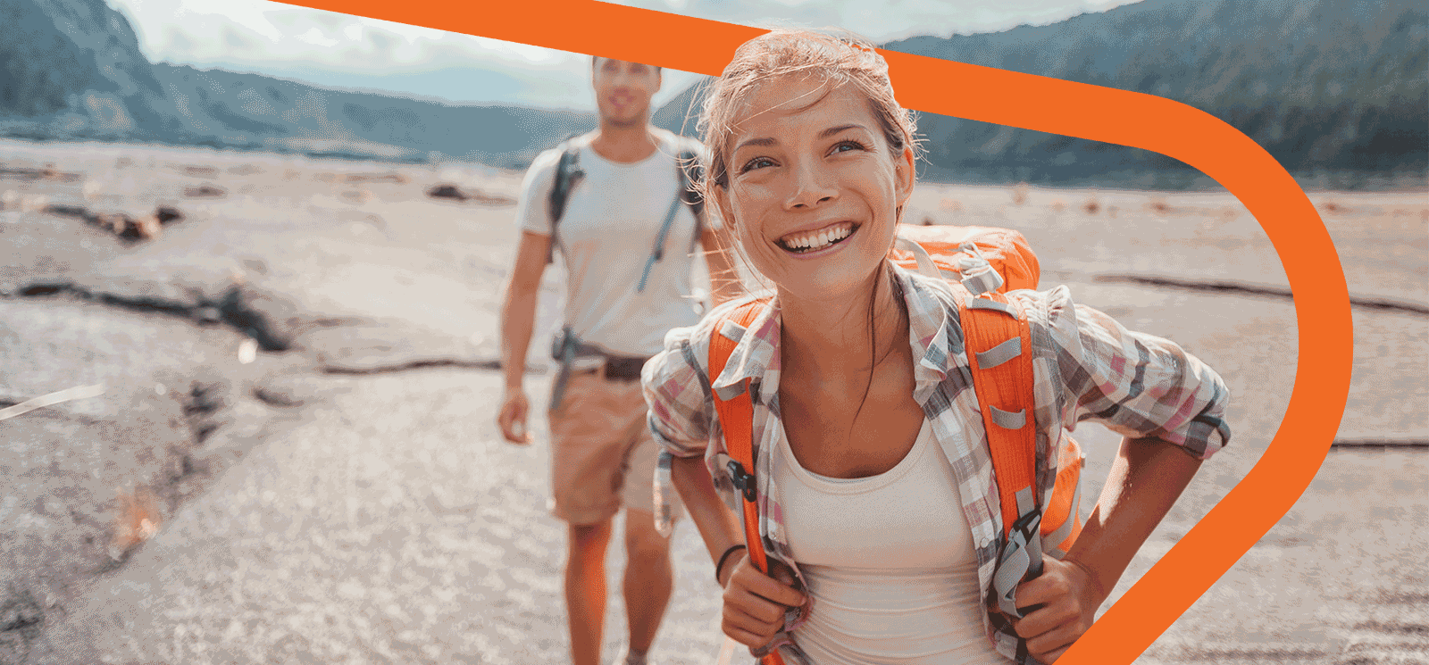
POLYGON ((630 651, 646 654, 674 588, 670 539, 654 529, 654 517, 649 511, 626 511, 626 557, 623 592, 630 651))

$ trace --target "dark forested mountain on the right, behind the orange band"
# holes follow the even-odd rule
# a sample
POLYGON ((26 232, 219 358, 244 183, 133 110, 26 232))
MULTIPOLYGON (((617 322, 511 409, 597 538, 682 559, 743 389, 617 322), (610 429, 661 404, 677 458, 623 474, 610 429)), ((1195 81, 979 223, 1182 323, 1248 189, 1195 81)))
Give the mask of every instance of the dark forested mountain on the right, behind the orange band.
MULTIPOLYGON (((892 51, 1156 94, 1210 113, 1286 170, 1422 177, 1429 157, 1429 14, 1360 0, 1145 0, 1046 26, 910 37, 892 51)), ((700 90, 654 114, 693 126, 700 90)), ((1123 146, 919 114, 926 177, 992 183, 1189 184, 1190 167, 1123 146)), ((1356 178, 1343 178, 1355 187, 1356 178)), ((1362 178, 1360 178, 1362 180, 1362 178)))

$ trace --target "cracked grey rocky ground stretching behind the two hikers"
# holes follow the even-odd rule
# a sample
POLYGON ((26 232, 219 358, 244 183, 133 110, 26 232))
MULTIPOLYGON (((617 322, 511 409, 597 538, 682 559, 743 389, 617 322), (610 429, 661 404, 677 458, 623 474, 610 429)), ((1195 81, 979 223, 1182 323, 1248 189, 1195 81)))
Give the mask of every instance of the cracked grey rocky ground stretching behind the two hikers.
MULTIPOLYGON (((544 422, 529 448, 494 427, 519 174, 104 144, 0 154, 0 408, 103 385, 0 421, 0 664, 564 662, 544 422), (470 198, 427 196, 442 184, 470 198), (144 223, 160 207, 183 217, 144 223), (107 213, 161 235, 117 237, 107 213)), ((1345 445, 1137 662, 1429 662, 1429 200, 1310 198, 1359 303, 1345 445)), ((1279 425, 1296 337, 1273 247, 1229 194, 920 186, 910 215, 1022 230, 1043 285, 1180 341, 1229 382, 1235 442, 1115 599, 1279 425)), ((552 277, 542 330, 556 311, 552 277)), ((542 357, 537 341, 537 414, 542 357)), ((1097 484, 1115 440, 1077 435, 1097 484)), ((717 598, 687 524, 674 551, 653 655, 710 664, 717 598)), ((614 598, 607 661, 622 616, 614 598)))

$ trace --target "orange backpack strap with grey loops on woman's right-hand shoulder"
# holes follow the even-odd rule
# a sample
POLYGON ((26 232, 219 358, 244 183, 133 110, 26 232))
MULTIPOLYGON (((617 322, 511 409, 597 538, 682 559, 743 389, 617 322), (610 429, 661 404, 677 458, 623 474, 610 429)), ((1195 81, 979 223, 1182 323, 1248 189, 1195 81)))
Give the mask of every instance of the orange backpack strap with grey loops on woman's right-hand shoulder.
POLYGON ((992 452, 1006 545, 993 574, 999 608, 1022 616, 1015 589, 1042 574, 1032 330, 1020 305, 1000 293, 972 295, 952 284, 973 391, 992 452))

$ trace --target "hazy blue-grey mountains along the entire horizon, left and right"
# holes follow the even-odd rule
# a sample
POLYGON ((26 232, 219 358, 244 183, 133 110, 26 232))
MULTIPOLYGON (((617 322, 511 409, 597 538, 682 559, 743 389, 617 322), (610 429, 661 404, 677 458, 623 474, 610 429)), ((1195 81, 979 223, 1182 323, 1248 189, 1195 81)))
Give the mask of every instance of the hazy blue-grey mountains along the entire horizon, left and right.
MULTIPOLYGON (((523 168, 593 113, 337 90, 150 63, 103 0, 0 0, 0 136, 121 140, 523 168)), ((883 47, 1157 94, 1205 110, 1298 174, 1429 168, 1429 14, 1408 1, 1143 0, 1046 26, 883 47)), ((694 134, 692 86, 653 121, 694 134)), ((1122 146, 920 114, 945 181, 1180 188, 1193 171, 1122 146)), ((1363 180, 1363 178, 1360 178, 1363 180)), ((1353 178, 1350 187, 1353 188, 1353 178)))

